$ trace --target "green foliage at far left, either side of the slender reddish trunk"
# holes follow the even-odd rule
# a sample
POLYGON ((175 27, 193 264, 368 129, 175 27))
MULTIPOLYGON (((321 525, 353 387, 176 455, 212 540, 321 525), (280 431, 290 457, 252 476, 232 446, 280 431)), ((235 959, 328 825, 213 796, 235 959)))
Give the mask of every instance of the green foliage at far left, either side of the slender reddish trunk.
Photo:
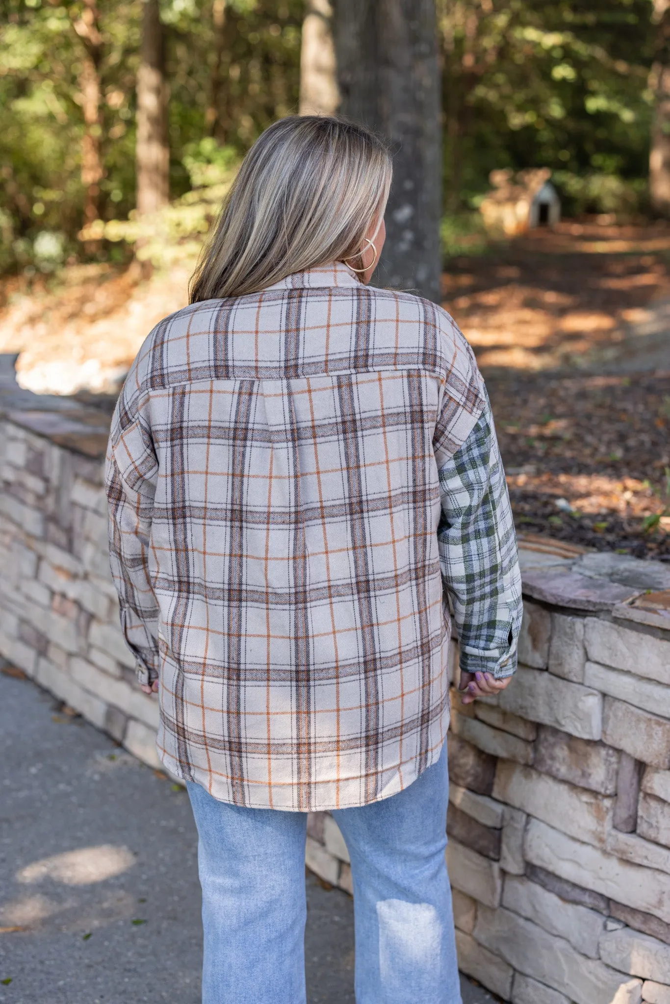
MULTIPOLYGON (((140 43, 139 0, 98 0, 102 58, 100 135, 105 176, 103 208, 128 212, 134 204, 135 71, 140 43), (130 170, 129 170, 130 165, 130 170)), ((84 190, 81 73, 84 49, 75 24, 80 2, 7 0, 0 28, 0 212, 2 266, 48 271, 43 232, 61 245, 58 259, 76 253, 84 190)))

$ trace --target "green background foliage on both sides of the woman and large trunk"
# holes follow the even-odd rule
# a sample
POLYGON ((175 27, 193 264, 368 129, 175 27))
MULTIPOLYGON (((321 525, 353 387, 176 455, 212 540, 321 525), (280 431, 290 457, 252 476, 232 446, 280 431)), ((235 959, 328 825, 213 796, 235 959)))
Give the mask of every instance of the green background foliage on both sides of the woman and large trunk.
MULTIPOLYGON (((436 2, 445 253, 481 247, 472 209, 494 168, 550 168, 568 213, 644 211, 658 30, 651 0, 436 2)), ((130 247, 160 266, 195 254, 240 157, 297 107, 304 0, 161 0, 175 201, 141 224, 133 210, 142 2, 95 3, 103 176, 99 221, 86 231, 98 239, 85 244, 86 5, 3 4, 0 272, 49 272, 130 247)))

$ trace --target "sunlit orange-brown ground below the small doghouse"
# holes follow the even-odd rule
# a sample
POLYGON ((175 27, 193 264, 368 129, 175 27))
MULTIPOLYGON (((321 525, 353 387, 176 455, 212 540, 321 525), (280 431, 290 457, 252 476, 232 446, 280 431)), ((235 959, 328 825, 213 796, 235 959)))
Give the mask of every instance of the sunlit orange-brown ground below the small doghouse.
POLYGON ((616 355, 629 325, 653 319, 670 294, 667 266, 654 257, 668 241, 653 227, 534 231, 508 244, 504 263, 456 261, 443 277, 444 306, 483 367, 583 367, 616 355))

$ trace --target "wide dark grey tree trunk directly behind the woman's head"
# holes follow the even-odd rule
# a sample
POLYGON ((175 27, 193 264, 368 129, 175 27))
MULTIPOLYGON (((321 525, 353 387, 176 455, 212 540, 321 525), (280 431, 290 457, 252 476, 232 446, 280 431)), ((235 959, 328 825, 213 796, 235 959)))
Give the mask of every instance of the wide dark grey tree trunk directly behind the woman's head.
POLYGON ((440 302, 442 141, 435 0, 338 0, 341 111, 394 152, 379 281, 440 302))

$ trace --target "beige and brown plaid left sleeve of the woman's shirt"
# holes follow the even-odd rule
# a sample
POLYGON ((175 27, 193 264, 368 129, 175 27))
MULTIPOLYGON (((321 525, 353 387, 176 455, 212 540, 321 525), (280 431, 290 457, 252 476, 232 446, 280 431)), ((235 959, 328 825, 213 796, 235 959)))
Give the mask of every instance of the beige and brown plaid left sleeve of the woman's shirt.
POLYGON ((136 659, 138 679, 159 676, 159 607, 151 583, 151 547, 158 460, 151 432, 140 412, 120 399, 106 456, 109 565, 121 605, 126 644, 136 659))

